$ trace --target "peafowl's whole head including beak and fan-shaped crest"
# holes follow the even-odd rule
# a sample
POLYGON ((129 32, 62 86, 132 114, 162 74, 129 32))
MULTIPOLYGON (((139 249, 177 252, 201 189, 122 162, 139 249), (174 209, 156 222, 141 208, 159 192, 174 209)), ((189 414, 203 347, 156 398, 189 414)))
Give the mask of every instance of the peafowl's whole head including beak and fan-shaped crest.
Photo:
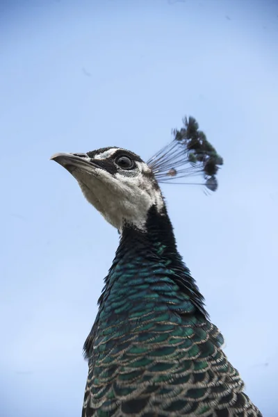
POLYGON ((193 117, 173 131, 174 140, 147 163, 133 152, 106 147, 85 154, 54 154, 51 159, 78 181, 85 198, 122 231, 124 224, 145 230, 149 209, 163 215, 158 182, 202 174, 206 189, 217 189, 216 173, 223 160, 206 140, 193 117))

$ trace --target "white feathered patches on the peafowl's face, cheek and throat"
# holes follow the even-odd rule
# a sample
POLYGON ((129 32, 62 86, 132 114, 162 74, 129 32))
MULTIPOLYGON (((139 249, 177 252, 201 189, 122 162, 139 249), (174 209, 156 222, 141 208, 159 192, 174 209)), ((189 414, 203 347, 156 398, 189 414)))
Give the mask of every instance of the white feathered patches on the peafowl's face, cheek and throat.
MULTIPOLYGON (((116 150, 118 148, 106 152, 111 156, 111 151, 116 150)), ((119 231, 126 222, 145 231, 149 208, 156 206, 158 213, 163 210, 161 190, 146 163, 136 161, 136 169, 132 175, 128 174, 117 172, 112 175, 97 167, 92 174, 73 172, 85 198, 109 223, 119 231)))

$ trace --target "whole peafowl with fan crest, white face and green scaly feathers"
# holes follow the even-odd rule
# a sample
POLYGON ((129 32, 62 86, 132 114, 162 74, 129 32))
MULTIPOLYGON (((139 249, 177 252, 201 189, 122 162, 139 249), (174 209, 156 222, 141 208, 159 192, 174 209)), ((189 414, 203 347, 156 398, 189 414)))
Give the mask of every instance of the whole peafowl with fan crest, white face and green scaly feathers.
POLYGON ((173 135, 147 163, 120 147, 51 157, 120 233, 83 348, 82 417, 262 417, 222 351, 158 186, 202 175, 215 191, 223 160, 193 117, 173 135))

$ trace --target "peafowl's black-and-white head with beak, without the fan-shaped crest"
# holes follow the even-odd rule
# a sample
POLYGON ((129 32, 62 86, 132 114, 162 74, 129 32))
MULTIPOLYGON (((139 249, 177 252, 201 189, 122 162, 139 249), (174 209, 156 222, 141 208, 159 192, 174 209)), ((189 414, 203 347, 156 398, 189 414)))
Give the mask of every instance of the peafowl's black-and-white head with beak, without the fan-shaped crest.
POLYGON ((133 152, 107 147, 85 154, 54 154, 51 159, 72 174, 88 202, 119 231, 126 223, 144 229, 149 208, 163 210, 152 169, 133 152))

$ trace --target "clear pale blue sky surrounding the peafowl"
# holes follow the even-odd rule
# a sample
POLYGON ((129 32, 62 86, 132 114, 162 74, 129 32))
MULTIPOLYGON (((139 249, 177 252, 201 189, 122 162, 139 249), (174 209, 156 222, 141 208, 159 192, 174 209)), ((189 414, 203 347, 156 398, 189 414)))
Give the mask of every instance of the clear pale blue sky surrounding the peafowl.
POLYGON ((163 186, 179 251, 277 417, 278 1, 0 3, 0 414, 81 415, 82 347, 119 236, 55 152, 149 158, 193 115, 217 193, 163 186))

